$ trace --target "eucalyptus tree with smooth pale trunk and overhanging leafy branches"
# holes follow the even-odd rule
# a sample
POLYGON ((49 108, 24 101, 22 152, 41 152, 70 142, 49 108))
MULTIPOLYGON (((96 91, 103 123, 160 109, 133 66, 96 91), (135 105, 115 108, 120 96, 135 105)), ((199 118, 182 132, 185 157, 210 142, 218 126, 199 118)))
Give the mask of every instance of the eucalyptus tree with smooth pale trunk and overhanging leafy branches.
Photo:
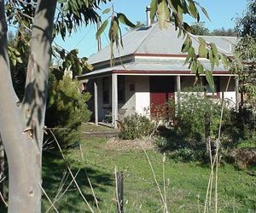
MULTIPOLYGON (((48 88, 49 63, 52 55, 59 55, 66 62, 63 66, 76 67, 82 72, 84 60, 68 60, 63 49, 52 49, 51 43, 56 35, 63 39, 80 27, 100 19, 97 14, 100 3, 107 0, 0 0, 0 132, 9 164, 9 212, 41 211, 41 164, 44 135, 44 112, 48 88), (27 41, 29 57, 26 68, 26 85, 23 99, 19 100, 13 86, 10 62, 22 63, 22 50, 8 47, 8 25, 17 28, 19 39, 27 41), (26 32, 26 33, 24 33, 26 32), (29 35, 27 39, 24 35, 29 35), (66 60, 67 59, 67 60, 66 60)), ((187 53, 186 63, 191 72, 205 73, 210 84, 213 84, 211 70, 198 60, 207 57, 211 60, 212 69, 223 60, 228 66, 229 60, 218 53, 214 43, 207 43, 200 37, 194 37, 200 43, 198 54, 192 46, 191 28, 183 21, 183 14, 189 14, 200 21, 200 10, 207 15, 206 9, 194 0, 152 0, 150 17, 158 19, 161 28, 174 20, 179 36, 185 37, 182 46, 187 53)), ((125 14, 116 12, 113 7, 103 11, 110 13, 108 20, 96 33, 99 36, 107 26, 111 47, 115 44, 122 47, 120 24, 133 26, 125 14)), ((17 37, 16 37, 17 38, 17 37)), ((125 47, 124 47, 125 48, 125 47)), ((110 53, 113 58, 113 51, 110 53)), ((70 55, 69 55, 70 56, 70 55)), ((113 62, 113 61, 112 61, 113 62)))

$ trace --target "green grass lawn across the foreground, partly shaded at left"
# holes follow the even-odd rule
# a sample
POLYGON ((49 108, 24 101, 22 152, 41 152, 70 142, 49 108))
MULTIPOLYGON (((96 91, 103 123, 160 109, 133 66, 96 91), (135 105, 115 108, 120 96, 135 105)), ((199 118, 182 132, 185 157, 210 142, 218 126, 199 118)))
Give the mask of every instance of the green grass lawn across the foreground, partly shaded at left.
MULTIPOLYGON (((95 202, 86 179, 85 170, 99 200, 102 212, 115 212, 114 167, 124 173, 125 212, 156 212, 162 203, 148 160, 143 151, 116 152, 106 148, 105 139, 81 141, 84 159, 79 150, 66 154, 73 174, 81 169, 77 181, 86 199, 96 210, 95 202)), ((148 151, 154 172, 163 189, 162 154, 157 150, 148 151)), ((44 156, 44 189, 53 199, 61 182, 66 165, 61 158, 52 154, 44 156)), ((167 204, 172 212, 202 212, 207 191, 209 168, 200 163, 174 163, 166 160, 167 204)), ((255 168, 252 169, 255 171, 255 168)), ((255 174, 255 172, 254 172, 255 174)), ((218 207, 221 212, 255 212, 256 177, 247 175, 245 170, 236 170, 230 164, 221 165, 218 174, 218 207)), ((67 183, 70 181, 67 179, 67 183)), ((212 197, 212 199, 214 199, 212 197)), ((43 200, 43 212, 49 202, 43 200)), ((89 212, 83 199, 72 185, 67 193, 55 204, 60 212, 89 212)), ((213 211, 213 209, 212 209, 213 211)), ((51 210, 50 212, 54 212, 51 210)), ((162 210, 160 210, 162 212, 162 210)))

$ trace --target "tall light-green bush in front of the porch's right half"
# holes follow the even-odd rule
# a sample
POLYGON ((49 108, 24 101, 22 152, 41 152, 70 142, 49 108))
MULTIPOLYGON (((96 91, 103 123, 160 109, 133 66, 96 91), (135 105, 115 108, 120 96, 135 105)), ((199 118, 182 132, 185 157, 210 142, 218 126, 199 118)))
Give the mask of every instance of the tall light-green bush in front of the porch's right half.
MULTIPOLYGON (((218 136, 218 127, 223 101, 212 99, 201 92, 179 94, 180 104, 177 107, 177 134, 190 145, 197 147, 205 142, 205 116, 210 120, 210 135, 218 136)), ((230 118, 229 102, 225 101, 223 120, 230 118)))

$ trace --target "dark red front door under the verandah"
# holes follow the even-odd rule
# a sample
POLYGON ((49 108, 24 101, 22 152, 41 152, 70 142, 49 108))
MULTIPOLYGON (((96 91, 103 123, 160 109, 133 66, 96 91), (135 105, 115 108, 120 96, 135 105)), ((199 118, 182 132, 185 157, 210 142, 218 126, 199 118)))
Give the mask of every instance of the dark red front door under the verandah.
POLYGON ((169 101, 174 100, 175 80, 172 76, 150 77, 150 115, 151 117, 166 117, 170 109, 169 101))

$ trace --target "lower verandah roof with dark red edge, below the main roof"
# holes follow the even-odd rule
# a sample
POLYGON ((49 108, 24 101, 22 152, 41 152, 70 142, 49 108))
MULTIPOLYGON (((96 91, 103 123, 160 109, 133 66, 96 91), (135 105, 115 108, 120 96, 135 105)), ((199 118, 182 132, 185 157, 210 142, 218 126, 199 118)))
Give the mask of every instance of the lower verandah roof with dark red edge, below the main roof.
MULTIPOLYGON (((161 55, 155 57, 152 55, 150 60, 145 60, 143 55, 135 56, 135 60, 119 64, 112 67, 105 67, 102 69, 96 69, 92 72, 85 73, 78 77, 79 80, 90 79, 90 78, 101 78, 109 76, 113 73, 118 75, 162 75, 162 76, 194 76, 195 73, 191 73, 189 65, 184 65, 185 57, 177 55, 177 57, 169 57, 161 55), (136 58, 138 57, 138 58, 136 58)), ((200 59, 203 66, 206 69, 211 70, 211 63, 209 60, 200 59)), ((223 65, 216 66, 212 72, 215 76, 234 76, 229 70, 225 69, 223 65)))

